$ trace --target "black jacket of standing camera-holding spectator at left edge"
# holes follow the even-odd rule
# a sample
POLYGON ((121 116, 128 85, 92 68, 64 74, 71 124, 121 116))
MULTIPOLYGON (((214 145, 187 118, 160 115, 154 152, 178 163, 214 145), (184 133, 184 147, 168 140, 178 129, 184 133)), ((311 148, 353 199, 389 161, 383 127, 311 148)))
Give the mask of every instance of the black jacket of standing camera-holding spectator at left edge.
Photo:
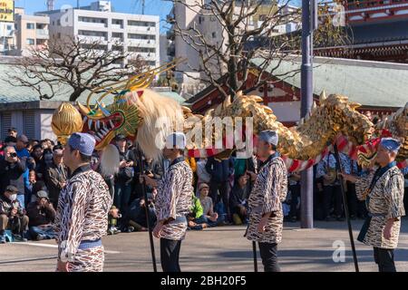
POLYGON ((0 159, 0 193, 4 193, 7 186, 14 185, 18 189, 18 194, 24 194, 25 169, 25 160, 10 163, 2 157, 0 159))

